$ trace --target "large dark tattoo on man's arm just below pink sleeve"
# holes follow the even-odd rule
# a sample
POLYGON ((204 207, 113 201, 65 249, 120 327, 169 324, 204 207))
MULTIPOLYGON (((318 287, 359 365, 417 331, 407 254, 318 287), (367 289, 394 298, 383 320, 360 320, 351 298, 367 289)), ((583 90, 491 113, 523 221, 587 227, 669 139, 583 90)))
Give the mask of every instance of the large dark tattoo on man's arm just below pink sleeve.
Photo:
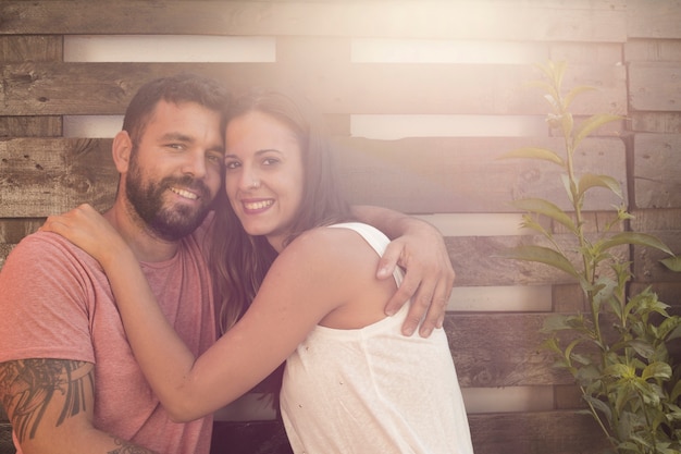
POLYGON ((92 394, 92 365, 64 359, 23 359, 0 364, 2 404, 20 441, 33 439, 55 396, 63 408, 55 426, 86 410, 86 394, 92 394))

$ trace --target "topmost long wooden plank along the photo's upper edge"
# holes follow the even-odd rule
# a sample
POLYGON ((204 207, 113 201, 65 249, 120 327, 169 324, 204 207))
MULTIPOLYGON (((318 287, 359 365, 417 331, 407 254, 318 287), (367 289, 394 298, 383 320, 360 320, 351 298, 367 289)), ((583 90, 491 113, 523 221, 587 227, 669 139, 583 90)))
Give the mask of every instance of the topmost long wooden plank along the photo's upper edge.
POLYGON ((622 2, 610 9, 604 3, 116 1, 102 14, 87 0, 5 0, 0 3, 0 33, 626 41, 622 2))

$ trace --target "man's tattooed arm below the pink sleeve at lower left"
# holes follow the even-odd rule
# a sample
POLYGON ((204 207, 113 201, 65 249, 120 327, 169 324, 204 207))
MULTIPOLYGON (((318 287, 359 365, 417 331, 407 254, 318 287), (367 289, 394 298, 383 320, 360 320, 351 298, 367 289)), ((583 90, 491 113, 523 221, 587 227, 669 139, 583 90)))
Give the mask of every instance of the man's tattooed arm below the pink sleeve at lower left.
POLYGON ((67 359, 0 364, 0 400, 25 454, 152 453, 92 427, 95 366, 67 359))

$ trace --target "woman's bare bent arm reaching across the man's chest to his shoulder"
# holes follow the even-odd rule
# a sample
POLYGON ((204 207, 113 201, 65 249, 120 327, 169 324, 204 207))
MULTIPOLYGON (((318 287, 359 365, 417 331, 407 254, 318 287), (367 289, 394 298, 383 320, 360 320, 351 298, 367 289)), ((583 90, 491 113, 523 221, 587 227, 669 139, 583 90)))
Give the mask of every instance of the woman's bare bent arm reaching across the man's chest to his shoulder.
MULTIPOLYGON (((352 247, 333 241, 338 233, 308 232, 278 256, 243 319, 195 358, 161 312, 133 251, 99 213, 79 207, 50 217, 42 230, 62 234, 100 261, 135 357, 176 420, 210 414, 250 390, 325 315, 367 286, 357 278, 362 268, 349 266, 352 247)), ((320 229, 330 230, 335 229, 320 229)), ((377 257, 363 266, 372 280, 375 262, 377 257)))

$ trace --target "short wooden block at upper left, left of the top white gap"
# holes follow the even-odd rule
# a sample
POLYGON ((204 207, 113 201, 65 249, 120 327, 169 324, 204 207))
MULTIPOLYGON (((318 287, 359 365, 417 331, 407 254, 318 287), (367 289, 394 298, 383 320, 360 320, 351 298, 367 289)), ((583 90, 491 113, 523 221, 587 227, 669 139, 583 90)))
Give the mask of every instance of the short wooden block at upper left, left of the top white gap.
POLYGON ((61 36, 0 35, 0 62, 61 61, 62 42, 61 36))

